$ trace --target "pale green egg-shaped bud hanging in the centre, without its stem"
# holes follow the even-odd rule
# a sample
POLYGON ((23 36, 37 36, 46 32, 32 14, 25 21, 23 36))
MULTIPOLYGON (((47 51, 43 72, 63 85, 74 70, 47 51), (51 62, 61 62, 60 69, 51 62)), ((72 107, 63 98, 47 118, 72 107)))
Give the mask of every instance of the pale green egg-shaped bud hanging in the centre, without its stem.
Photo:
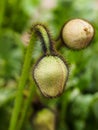
POLYGON ((44 56, 35 65, 33 77, 44 96, 57 97, 64 91, 68 68, 60 57, 44 56))

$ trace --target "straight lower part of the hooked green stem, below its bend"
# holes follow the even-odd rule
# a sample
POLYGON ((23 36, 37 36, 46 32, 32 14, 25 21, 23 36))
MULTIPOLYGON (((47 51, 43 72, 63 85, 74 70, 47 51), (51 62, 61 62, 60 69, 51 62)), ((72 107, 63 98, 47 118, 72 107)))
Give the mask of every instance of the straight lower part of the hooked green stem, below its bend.
MULTIPOLYGON (((34 35, 34 33, 32 35, 34 35)), ((35 37, 32 36, 29 46, 27 48, 27 53, 25 57, 25 62, 24 62, 23 71, 20 78, 17 94, 16 94, 15 106, 13 109, 9 130, 15 130, 18 116, 21 110, 21 104, 23 101, 23 90, 24 90, 27 78, 29 76, 30 63, 32 59, 32 50, 34 47, 34 40, 35 40, 35 37)))

